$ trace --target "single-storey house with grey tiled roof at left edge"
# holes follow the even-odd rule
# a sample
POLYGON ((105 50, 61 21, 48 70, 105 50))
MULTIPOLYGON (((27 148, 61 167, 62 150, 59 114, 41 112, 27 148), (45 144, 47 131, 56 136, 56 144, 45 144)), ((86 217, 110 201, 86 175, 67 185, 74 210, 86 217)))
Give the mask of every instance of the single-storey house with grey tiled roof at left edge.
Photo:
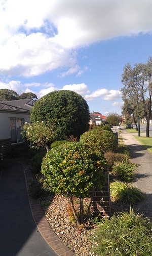
POLYGON ((30 122, 30 111, 33 105, 33 99, 0 102, 0 145, 4 157, 11 151, 20 150, 25 146, 21 126, 24 122, 30 122))

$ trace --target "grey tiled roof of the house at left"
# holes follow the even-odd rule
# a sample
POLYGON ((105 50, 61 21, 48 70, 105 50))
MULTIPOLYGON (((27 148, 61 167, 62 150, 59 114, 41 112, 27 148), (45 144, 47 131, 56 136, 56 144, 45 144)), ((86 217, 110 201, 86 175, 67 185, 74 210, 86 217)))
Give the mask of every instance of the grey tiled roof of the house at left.
POLYGON ((34 106, 34 100, 33 99, 18 99, 18 100, 9 100, 9 101, 1 101, 1 103, 10 105, 19 109, 24 109, 31 111, 34 106))

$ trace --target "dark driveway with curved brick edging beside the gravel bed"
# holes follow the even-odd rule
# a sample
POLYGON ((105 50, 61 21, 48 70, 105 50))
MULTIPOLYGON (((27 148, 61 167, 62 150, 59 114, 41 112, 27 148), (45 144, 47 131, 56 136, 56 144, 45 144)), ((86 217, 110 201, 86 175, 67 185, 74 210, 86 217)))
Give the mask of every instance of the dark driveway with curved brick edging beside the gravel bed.
POLYGON ((26 164, 23 166, 16 161, 3 161, 2 164, 0 255, 74 255, 53 232, 45 218, 40 201, 28 197, 25 178, 27 182, 31 180, 31 173, 28 168, 24 168, 26 164))

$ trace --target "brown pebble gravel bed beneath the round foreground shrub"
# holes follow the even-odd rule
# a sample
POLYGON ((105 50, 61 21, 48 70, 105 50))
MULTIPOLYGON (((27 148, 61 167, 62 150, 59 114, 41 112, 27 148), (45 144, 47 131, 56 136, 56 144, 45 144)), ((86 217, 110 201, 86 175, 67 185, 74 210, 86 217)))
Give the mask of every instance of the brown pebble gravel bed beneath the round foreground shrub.
MULTIPOLYGON (((85 203, 88 203, 87 199, 85 203)), ((68 214, 69 203, 64 196, 52 195, 43 197, 41 198, 41 204, 53 231, 68 248, 78 256, 95 255, 92 252, 93 244, 88 240, 89 235, 96 230, 95 223, 86 222, 85 226, 78 227, 71 222, 68 214)), ((111 214, 114 212, 129 212, 129 210, 129 205, 112 202, 111 214)))

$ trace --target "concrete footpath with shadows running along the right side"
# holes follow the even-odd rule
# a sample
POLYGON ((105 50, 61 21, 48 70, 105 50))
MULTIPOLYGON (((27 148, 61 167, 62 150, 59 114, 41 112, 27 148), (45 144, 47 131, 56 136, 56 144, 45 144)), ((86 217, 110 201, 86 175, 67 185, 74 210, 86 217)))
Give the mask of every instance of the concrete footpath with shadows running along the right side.
MULTIPOLYGON (((133 134, 135 135, 135 134, 133 134)), ((122 129, 120 136, 131 152, 131 161, 138 164, 137 179, 133 186, 146 194, 146 198, 137 204, 139 213, 152 220, 152 154, 142 146, 126 129, 122 129)), ((142 136, 142 135, 141 135, 142 136)))

